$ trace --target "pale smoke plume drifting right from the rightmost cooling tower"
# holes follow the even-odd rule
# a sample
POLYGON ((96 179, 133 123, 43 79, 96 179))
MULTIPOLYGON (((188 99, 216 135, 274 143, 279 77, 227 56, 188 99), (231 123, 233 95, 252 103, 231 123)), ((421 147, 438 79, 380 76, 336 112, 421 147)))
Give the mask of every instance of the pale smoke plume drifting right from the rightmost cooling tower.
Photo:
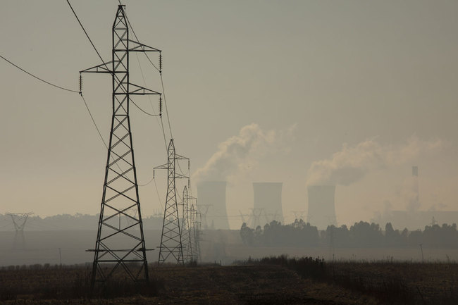
POLYGON ((423 141, 410 137, 406 144, 393 146, 368 139, 353 147, 343 144, 332 158, 315 161, 309 169, 308 185, 351 185, 373 171, 412 161, 442 147, 440 140, 423 141))

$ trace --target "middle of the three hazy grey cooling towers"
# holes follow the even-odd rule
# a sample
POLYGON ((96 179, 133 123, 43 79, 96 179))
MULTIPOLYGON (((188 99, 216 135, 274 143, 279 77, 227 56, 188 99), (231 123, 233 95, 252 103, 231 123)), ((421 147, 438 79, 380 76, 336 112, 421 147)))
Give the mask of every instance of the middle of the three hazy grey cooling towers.
POLYGON ((283 223, 282 185, 282 182, 253 182, 254 211, 252 217, 259 217, 258 223, 261 228, 272 220, 283 223))

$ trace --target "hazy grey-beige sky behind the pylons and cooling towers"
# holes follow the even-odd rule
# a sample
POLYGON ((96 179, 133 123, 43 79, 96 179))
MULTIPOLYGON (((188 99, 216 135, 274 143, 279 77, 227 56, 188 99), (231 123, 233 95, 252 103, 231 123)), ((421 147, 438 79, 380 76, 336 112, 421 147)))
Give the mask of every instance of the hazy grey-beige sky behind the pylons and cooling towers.
MULTIPOLYGON (((117 1, 71 3, 109 61, 117 1)), ((283 182, 287 221, 307 210, 307 183, 336 182, 338 223, 370 220, 407 207, 413 165, 421 209, 458 209, 457 1, 123 3, 141 42, 163 50, 177 153, 199 175, 212 156, 235 164, 224 173, 230 215, 252 208, 252 182, 283 182), (242 150, 231 155, 234 143, 242 150)), ((2 56, 72 89, 79 70, 100 63, 66 1, 2 1, 0 41, 2 56)), ((147 87, 161 91, 139 61, 147 87)), ((144 85, 138 66, 133 55, 131 82, 144 85)), ((106 149, 78 94, 5 61, 0 69, 0 213, 98 213, 106 149)), ((83 83, 108 139, 110 77, 83 83)), ((166 162, 162 132, 137 108, 132 132, 144 184, 166 162)), ((166 173, 156 182, 163 204, 166 173)), ((140 200, 146 215, 161 208, 154 183, 140 200)))

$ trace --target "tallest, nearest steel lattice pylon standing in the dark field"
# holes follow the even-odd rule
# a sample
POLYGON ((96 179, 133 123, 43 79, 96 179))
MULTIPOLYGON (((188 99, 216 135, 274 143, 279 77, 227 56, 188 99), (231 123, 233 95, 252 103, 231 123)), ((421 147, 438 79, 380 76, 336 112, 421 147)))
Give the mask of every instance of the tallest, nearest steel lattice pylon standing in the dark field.
POLYGON ((129 54, 160 50, 129 39, 124 8, 118 6, 113 23, 111 61, 80 71, 109 73, 113 86, 113 116, 97 241, 95 249, 89 250, 94 251, 92 287, 95 282, 105 282, 118 268, 135 282, 149 278, 129 111, 130 96, 160 93, 130 83, 129 54))

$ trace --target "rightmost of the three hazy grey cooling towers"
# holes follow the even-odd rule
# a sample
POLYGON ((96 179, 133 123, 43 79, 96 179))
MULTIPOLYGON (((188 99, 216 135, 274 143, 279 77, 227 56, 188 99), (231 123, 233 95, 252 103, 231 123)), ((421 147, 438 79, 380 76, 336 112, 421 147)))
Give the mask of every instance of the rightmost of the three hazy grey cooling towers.
POLYGON ((318 227, 318 230, 326 230, 328 225, 337 225, 334 206, 335 185, 310 185, 307 190, 307 222, 318 227))

